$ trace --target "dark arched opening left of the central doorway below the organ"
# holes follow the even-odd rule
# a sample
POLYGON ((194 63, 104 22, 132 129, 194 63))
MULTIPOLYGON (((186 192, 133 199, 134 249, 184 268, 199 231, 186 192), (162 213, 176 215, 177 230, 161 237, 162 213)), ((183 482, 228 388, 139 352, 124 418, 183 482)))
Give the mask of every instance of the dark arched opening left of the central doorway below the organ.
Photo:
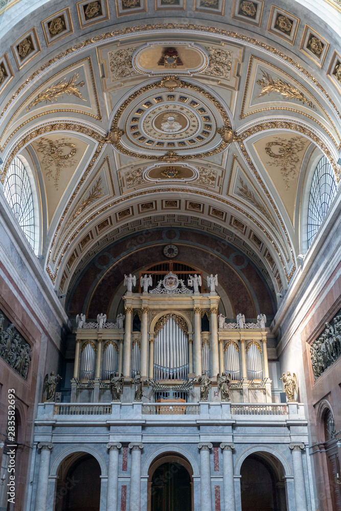
POLYGON ((61 463, 54 511, 99 511, 101 468, 94 456, 73 453, 61 463))

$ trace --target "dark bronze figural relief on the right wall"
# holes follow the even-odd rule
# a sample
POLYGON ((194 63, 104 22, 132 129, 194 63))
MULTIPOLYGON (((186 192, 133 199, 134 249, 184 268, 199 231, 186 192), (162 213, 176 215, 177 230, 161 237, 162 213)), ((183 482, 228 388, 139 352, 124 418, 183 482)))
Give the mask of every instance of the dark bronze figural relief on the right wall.
POLYGON ((341 355, 341 316, 335 316, 332 323, 325 323, 325 329, 310 346, 310 360, 315 380, 324 373, 341 355))

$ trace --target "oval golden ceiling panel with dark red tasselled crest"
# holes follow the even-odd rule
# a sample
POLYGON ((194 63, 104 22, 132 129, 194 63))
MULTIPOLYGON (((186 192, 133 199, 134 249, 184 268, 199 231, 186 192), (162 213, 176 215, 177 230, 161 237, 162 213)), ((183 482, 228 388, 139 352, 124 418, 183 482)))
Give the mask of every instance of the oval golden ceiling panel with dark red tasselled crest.
POLYGON ((132 54, 136 71, 149 76, 176 73, 193 75, 202 73, 208 66, 207 53, 190 42, 150 42, 132 54))

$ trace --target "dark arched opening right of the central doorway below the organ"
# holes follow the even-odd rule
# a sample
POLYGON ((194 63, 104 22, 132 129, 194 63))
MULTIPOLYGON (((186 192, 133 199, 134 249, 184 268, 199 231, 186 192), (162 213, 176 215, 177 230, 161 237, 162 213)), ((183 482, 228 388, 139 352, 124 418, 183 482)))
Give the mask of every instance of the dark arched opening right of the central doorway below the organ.
POLYGON ((287 511, 279 460, 265 453, 251 454, 244 459, 240 473, 242 511, 287 511))

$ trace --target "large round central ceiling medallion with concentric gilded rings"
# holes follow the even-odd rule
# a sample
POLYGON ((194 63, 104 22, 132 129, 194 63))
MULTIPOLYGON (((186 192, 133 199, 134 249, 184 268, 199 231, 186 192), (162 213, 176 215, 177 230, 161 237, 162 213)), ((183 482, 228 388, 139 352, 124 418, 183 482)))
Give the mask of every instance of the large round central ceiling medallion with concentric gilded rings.
POLYGON ((184 159, 225 149, 218 129, 230 121, 217 99, 187 82, 177 80, 171 91, 162 83, 143 87, 120 107, 111 127, 122 133, 115 147, 129 156, 153 159, 163 159, 169 151, 184 159))

